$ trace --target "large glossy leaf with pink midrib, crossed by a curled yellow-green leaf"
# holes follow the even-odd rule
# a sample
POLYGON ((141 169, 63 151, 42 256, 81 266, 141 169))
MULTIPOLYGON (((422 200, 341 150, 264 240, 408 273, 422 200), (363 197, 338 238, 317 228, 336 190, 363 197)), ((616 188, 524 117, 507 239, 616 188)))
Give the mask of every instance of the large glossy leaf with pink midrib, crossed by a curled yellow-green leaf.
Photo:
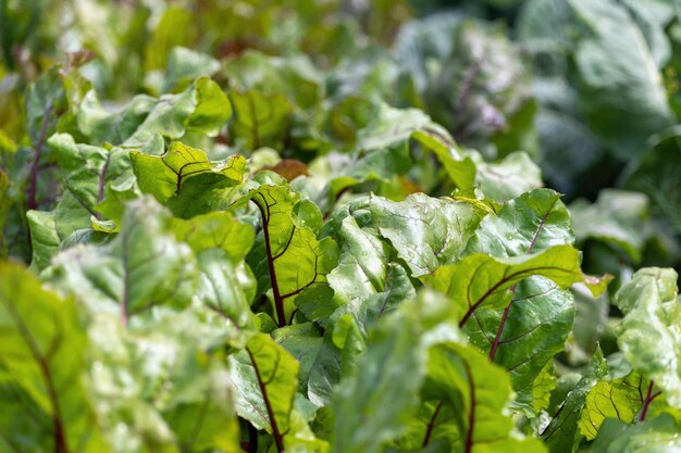
MULTIPOLYGON (((560 194, 536 189, 483 218, 467 249, 499 257, 522 256, 573 241, 570 214, 560 194)), ((476 322, 468 323, 466 331, 473 344, 509 372, 518 393, 515 406, 533 414, 542 408, 541 401, 534 401, 534 381, 564 350, 574 306, 570 292, 546 278, 531 277, 511 290, 512 300, 503 315, 495 310, 478 310, 476 322)))

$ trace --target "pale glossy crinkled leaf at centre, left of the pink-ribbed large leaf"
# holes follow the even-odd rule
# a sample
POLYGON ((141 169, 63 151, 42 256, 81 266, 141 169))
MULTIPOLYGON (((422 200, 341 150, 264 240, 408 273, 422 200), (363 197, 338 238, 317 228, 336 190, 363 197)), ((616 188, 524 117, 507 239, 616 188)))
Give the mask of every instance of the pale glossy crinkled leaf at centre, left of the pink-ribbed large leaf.
POLYGON ((470 204, 423 193, 400 202, 371 197, 369 210, 373 226, 391 241, 413 277, 456 262, 480 222, 470 204))

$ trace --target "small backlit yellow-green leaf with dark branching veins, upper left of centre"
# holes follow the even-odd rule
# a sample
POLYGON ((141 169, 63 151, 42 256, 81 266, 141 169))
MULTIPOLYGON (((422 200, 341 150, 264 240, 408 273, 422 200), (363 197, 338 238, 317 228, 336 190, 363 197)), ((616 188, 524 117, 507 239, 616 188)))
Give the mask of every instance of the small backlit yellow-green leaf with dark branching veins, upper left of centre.
POLYGON ((246 168, 246 159, 242 155, 211 162, 206 152, 178 141, 171 143, 161 156, 133 151, 131 160, 141 191, 151 193, 161 203, 179 196, 187 181, 203 175, 214 175, 210 180, 213 184, 240 184, 246 168))

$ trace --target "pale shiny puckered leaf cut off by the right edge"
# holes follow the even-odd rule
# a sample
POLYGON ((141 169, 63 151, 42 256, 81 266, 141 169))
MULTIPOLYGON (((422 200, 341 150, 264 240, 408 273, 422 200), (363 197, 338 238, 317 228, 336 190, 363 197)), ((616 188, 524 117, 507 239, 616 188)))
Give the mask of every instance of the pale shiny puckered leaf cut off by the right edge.
POLYGON ((615 295, 624 313, 617 325, 617 343, 632 368, 681 407, 681 305, 678 274, 670 268, 636 272, 615 295))

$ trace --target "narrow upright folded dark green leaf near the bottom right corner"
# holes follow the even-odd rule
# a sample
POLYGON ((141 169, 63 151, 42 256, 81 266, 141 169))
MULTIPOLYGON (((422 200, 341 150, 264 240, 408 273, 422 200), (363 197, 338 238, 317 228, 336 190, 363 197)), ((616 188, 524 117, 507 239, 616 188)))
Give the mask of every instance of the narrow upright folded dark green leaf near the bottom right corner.
POLYGON ((603 358, 600 348, 596 349, 581 379, 574 386, 562 404, 558 407, 541 438, 552 453, 575 452, 581 441, 579 421, 584 411, 584 403, 591 390, 608 373, 608 364, 603 358))

